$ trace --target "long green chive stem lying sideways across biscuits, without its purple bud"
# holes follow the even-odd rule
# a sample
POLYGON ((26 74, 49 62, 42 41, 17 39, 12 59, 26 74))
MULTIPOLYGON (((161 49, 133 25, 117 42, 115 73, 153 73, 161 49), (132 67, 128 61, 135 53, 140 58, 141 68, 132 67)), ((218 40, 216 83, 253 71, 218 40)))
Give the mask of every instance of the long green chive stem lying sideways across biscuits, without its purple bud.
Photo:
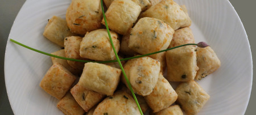
MULTIPOLYGON (((87 63, 87 62, 94 62, 94 63, 111 63, 111 62, 117 62, 117 60, 109 60, 109 61, 86 61, 86 60, 81 60, 81 59, 66 58, 66 57, 56 56, 56 55, 53 55, 53 54, 50 54, 50 53, 46 53, 46 52, 40 51, 40 50, 38 50, 38 49, 31 48, 30 46, 24 45, 24 44, 22 44, 22 43, 20 43, 20 42, 18 42, 18 41, 13 40, 13 39, 10 39, 10 41, 11 41, 11 42, 14 42, 15 44, 18 44, 18 45, 20 45, 20 46, 23 46, 24 48, 33 50, 33 51, 35 51, 35 52, 42 53, 42 54, 45 54, 45 55, 47 55, 47 56, 51 56, 51 57, 55 57, 55 58, 70 60, 70 61, 85 62, 85 63, 87 63)), ((180 47, 182 47, 182 46, 187 46, 187 45, 197 45, 197 44, 184 44, 184 45, 179 45, 179 46, 175 46, 175 47, 173 47, 173 48, 160 50, 160 51, 158 51, 158 52, 148 53, 148 54, 139 55, 139 56, 134 56, 134 57, 129 57, 129 58, 123 58, 123 59, 120 59, 120 61, 127 61, 127 60, 130 60, 130 59, 135 59, 135 58, 150 56, 150 55, 152 55, 152 54, 161 53, 161 52, 166 52, 166 51, 168 51, 168 50, 180 48, 180 47)), ((86 49, 87 49, 87 48, 86 48, 86 49)))

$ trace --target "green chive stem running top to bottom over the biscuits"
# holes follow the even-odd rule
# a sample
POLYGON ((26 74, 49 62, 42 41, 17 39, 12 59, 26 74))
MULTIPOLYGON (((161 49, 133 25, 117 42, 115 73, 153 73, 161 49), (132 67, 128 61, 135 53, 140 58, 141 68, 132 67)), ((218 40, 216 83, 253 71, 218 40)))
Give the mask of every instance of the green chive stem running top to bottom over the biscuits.
POLYGON ((114 53, 115 53, 115 57, 117 58, 117 61, 118 61, 118 64, 119 64, 119 66, 120 66, 120 68, 121 68, 121 70, 122 70, 123 76, 125 76, 125 80, 126 80, 128 86, 129 86, 129 88, 130 88, 131 94, 133 95, 133 98, 134 98, 134 100, 135 100, 135 103, 137 104, 137 107, 138 107, 138 109, 139 109, 139 112, 141 112, 141 114, 143 115, 143 112, 142 112, 142 110, 141 110, 141 107, 139 106, 139 102, 138 102, 138 100, 137 100, 137 97, 135 96, 135 93, 134 93, 134 91, 133 91, 133 88, 131 88, 131 84, 130 84, 130 82, 129 82, 129 79, 127 78, 127 76, 126 76, 126 74, 125 74, 125 70, 123 69, 122 63, 121 63, 121 61, 120 61, 120 59, 119 59, 119 57, 118 57, 118 55, 117 55, 117 52, 115 51, 115 47, 114 47, 114 44, 113 44, 113 41, 112 41, 112 38, 111 38, 111 35, 110 35, 110 32, 109 32, 108 23, 107 23, 107 21, 106 21, 106 16, 105 16, 104 7, 103 7, 103 1, 102 1, 102 0, 101 0, 101 10, 102 10, 103 18, 104 18, 104 20, 105 20, 106 29, 107 29, 107 31, 108 31, 109 40, 110 40, 110 43, 111 43, 112 48, 113 48, 114 53))

